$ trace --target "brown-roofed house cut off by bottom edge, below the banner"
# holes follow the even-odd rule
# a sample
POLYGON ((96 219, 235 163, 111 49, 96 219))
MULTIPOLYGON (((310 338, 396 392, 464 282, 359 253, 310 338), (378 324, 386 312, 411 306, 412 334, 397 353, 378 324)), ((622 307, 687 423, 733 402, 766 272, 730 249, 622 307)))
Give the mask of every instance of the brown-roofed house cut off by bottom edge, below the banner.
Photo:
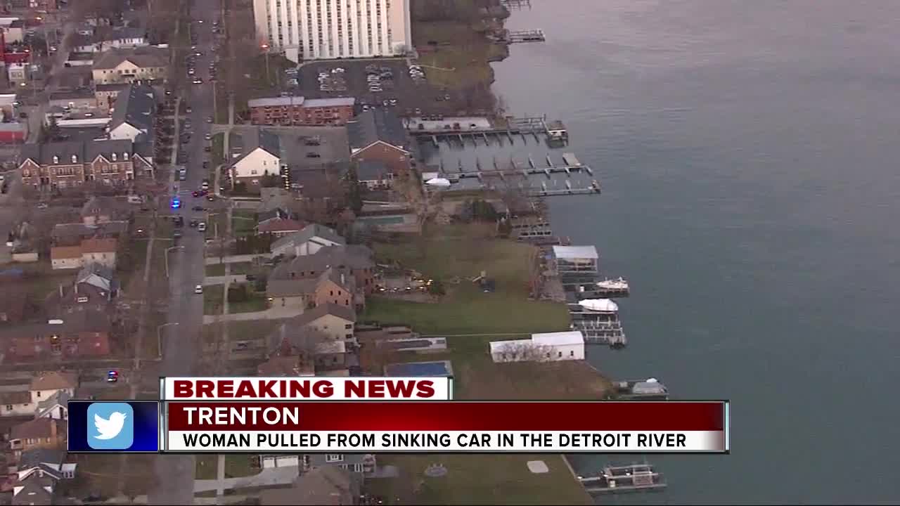
POLYGON ((336 466, 312 468, 303 473, 291 488, 266 489, 259 494, 260 504, 317 504, 321 506, 357 504, 360 476, 336 466))

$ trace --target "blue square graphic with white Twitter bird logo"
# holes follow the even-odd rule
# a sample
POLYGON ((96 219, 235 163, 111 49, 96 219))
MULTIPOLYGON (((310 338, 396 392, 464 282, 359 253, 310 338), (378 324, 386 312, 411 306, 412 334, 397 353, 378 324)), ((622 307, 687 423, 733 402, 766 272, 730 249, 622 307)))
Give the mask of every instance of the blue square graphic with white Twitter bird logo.
POLYGON ((159 402, 69 401, 69 453, 157 453, 159 402))

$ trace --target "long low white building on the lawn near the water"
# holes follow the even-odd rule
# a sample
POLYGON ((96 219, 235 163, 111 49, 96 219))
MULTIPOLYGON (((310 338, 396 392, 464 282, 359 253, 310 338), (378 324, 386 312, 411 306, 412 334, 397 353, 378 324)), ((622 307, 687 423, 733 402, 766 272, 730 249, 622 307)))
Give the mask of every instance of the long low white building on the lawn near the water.
POLYGON ((584 335, 580 331, 532 334, 531 339, 491 341, 494 362, 545 362, 584 360, 584 335))

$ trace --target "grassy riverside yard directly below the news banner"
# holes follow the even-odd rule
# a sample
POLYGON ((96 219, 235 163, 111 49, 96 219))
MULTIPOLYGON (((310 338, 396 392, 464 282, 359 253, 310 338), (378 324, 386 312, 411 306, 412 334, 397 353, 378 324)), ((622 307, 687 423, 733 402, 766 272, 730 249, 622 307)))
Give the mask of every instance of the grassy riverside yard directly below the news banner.
POLYGON ((378 465, 396 465, 401 476, 367 480, 366 488, 394 504, 591 504, 557 455, 379 455, 378 465), (532 460, 549 472, 531 473, 532 460), (426 476, 434 464, 447 474, 426 476))

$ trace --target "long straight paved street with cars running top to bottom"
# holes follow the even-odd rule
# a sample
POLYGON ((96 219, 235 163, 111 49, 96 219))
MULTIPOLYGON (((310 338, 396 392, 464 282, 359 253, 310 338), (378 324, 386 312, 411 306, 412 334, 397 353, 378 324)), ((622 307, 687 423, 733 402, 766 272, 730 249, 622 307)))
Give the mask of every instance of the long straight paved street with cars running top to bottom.
MULTIPOLYGON (((191 29, 197 33, 198 50, 203 56, 196 61, 197 74, 202 77, 202 85, 185 85, 180 90, 185 104, 191 106, 189 114, 193 126, 191 141, 186 146, 188 153, 187 180, 179 183, 180 188, 199 188, 206 171, 202 162, 206 159, 203 136, 209 132, 206 118, 212 114, 212 91, 207 68, 211 62, 213 35, 212 21, 218 19, 220 2, 218 0, 194 0, 192 17, 202 19, 203 23, 192 23, 191 29)), ((175 72, 185 72, 184 68, 175 72)), ((170 188, 170 191, 172 188, 170 188)), ((193 197, 182 198, 180 209, 174 210, 184 216, 184 221, 193 218, 205 219, 202 212, 193 212, 193 197)), ((204 202, 205 203, 205 202, 204 202)), ((167 204, 167 203, 166 203, 167 204)), ((164 205, 166 205, 164 204, 164 205)), ((169 311, 168 323, 177 323, 166 329, 163 342, 163 360, 161 375, 192 375, 197 370, 197 358, 200 356, 200 339, 202 329, 203 300, 202 295, 194 294, 193 288, 203 283, 203 233, 195 229, 185 228, 180 245, 184 248, 169 253, 169 311)), ((193 502, 193 478, 195 474, 193 456, 159 456, 157 467, 157 491, 150 494, 151 504, 190 504, 193 502)))

